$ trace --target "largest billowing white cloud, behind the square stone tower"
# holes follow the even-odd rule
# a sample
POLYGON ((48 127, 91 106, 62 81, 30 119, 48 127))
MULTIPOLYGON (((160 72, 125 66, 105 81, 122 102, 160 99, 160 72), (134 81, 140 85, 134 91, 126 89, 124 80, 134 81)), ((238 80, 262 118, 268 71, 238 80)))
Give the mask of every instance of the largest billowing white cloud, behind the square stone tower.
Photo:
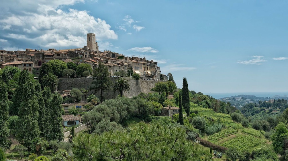
MULTIPOLYGON (((82 47, 86 45, 86 34, 91 32, 96 34, 98 41, 118 39, 118 35, 105 20, 94 18, 88 11, 60 9, 63 5, 83 2, 84 0, 4 2, 8 10, 2 12, 5 15, 0 15, 0 29, 4 30, 5 37, 27 40, 28 43, 48 48, 82 47), (16 30, 22 34, 14 34, 16 30)), ((1 6, 0 9, 3 9, 2 4, 1 6)))

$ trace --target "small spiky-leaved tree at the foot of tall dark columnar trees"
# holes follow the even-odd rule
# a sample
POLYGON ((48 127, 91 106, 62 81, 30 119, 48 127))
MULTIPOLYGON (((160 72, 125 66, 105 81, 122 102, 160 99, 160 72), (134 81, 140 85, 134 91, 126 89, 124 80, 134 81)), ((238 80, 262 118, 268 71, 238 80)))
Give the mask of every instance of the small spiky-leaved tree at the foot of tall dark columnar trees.
POLYGON ((43 138, 35 138, 30 142, 30 150, 40 156, 41 152, 49 147, 49 142, 43 138))

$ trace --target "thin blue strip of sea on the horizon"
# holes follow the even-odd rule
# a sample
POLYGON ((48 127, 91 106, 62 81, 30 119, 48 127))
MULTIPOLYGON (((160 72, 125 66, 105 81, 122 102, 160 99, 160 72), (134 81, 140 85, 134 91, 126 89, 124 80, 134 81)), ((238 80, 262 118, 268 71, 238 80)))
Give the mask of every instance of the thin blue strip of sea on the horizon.
POLYGON ((288 92, 238 92, 238 93, 203 93, 205 95, 210 95, 215 99, 223 98, 223 97, 231 97, 238 95, 254 95, 256 97, 274 97, 275 95, 288 97, 288 92))

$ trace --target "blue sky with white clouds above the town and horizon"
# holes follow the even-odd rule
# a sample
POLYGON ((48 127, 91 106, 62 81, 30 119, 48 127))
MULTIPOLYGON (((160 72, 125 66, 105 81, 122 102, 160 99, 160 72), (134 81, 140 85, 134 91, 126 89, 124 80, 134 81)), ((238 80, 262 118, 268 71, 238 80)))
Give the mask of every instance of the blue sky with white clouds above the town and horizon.
POLYGON ((288 91, 288 1, 4 0, 0 49, 99 50, 158 62, 202 93, 288 91))

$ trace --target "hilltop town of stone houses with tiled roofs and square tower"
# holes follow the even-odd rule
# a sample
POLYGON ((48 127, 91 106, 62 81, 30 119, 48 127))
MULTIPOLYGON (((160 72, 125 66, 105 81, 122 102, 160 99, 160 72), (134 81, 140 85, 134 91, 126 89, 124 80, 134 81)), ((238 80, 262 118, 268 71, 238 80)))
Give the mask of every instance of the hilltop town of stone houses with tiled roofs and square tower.
POLYGON ((143 80, 160 80, 160 78, 161 80, 168 80, 166 75, 161 74, 160 67, 153 60, 146 60, 145 57, 127 57, 110 50, 101 52, 98 48, 95 34, 90 33, 87 34, 87 46, 83 48, 65 50, 26 49, 26 51, 0 50, 0 65, 1 68, 16 66, 21 70, 27 70, 31 74, 38 75, 41 65, 53 59, 59 59, 66 63, 87 63, 91 65, 92 69, 97 68, 99 62, 103 62, 111 76, 121 70, 128 74, 128 70, 130 70, 139 74, 143 80))

